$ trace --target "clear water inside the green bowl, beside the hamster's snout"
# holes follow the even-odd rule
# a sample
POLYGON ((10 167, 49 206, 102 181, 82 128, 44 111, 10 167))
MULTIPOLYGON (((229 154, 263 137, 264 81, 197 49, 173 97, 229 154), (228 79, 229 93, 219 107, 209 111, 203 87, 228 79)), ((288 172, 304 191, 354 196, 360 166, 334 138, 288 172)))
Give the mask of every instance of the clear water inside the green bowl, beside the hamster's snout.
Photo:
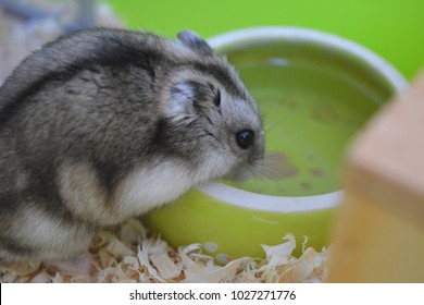
POLYGON ((277 196, 340 190, 348 143, 384 102, 382 97, 342 70, 312 61, 232 61, 260 106, 266 150, 284 157, 286 174, 226 183, 277 196))

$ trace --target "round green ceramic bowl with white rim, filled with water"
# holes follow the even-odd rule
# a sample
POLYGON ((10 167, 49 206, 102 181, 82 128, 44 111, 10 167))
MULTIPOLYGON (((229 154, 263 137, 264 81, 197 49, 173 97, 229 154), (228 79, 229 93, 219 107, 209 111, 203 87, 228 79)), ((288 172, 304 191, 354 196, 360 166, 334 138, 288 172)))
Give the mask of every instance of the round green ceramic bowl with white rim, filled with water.
MULTIPOLYGON (((219 261, 263 257, 292 233, 321 249, 342 197, 351 137, 407 81, 390 64, 340 37, 259 27, 209 39, 238 69, 264 118, 266 150, 285 157, 280 180, 213 181, 149 212, 145 224, 172 246, 201 243, 219 261)), ((295 251, 301 252, 301 246, 295 251)))

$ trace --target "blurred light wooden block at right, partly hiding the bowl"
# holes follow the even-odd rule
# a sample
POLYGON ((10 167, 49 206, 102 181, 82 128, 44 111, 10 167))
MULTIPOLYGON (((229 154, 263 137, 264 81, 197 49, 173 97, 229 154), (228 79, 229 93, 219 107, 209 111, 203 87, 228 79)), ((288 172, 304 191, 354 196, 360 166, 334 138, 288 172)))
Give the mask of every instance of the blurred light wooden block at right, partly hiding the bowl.
POLYGON ((329 282, 424 282, 424 73, 353 142, 329 282))

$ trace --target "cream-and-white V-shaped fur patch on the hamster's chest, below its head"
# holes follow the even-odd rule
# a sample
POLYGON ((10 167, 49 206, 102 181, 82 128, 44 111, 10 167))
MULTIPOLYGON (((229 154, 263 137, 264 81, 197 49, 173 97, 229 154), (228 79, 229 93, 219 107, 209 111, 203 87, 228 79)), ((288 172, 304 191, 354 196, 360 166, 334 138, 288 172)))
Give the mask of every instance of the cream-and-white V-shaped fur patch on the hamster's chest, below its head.
POLYGON ((188 169, 164 161, 133 170, 108 195, 89 163, 65 164, 59 174, 60 193, 70 210, 96 225, 113 225, 137 217, 188 191, 188 169))

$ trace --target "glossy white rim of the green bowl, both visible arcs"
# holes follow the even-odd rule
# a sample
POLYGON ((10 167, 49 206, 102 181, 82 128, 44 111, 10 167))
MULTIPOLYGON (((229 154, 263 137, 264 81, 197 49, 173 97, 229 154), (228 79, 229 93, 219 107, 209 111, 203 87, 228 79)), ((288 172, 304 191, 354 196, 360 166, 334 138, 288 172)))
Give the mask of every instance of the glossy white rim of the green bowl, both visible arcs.
MULTIPOLYGON (((236 29, 211 37, 208 44, 213 48, 247 47, 278 39, 320 44, 323 47, 349 53, 369 64, 401 95, 408 88, 407 80, 390 63, 366 49, 334 34, 294 26, 263 26, 236 29)), ((237 207, 270 212, 307 212, 329 209, 341 203, 344 191, 310 196, 272 196, 244 191, 217 181, 196 187, 199 192, 237 207)))

